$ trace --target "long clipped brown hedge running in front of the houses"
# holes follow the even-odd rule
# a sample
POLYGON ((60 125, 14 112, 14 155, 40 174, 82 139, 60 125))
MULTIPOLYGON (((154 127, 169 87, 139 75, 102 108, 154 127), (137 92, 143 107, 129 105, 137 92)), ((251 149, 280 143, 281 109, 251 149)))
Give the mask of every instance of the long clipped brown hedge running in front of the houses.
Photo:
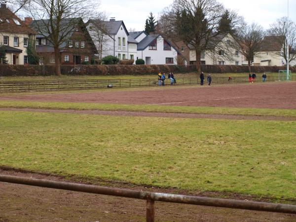
MULTIPOLYGON (((252 66, 252 72, 278 72, 285 67, 252 66)), ((159 72, 188 73, 196 71, 195 66, 175 65, 61 65, 61 73, 65 75, 126 75, 126 74, 158 74, 159 72)), ((248 73, 247 66, 204 65, 206 73, 248 73)), ((291 67, 296 72, 296 67, 291 67)), ((0 76, 37 76, 54 75, 54 65, 0 65, 0 76)))

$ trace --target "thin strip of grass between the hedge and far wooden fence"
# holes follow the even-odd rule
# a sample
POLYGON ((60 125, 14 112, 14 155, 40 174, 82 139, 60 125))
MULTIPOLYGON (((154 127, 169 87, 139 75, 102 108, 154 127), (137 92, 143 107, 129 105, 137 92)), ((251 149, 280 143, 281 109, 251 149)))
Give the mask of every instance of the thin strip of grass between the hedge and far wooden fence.
MULTIPOLYGON (((208 75, 209 73, 205 73, 208 75)), ((278 73, 266 73, 268 76, 277 76, 278 73)), ((199 77, 196 72, 187 74, 175 74, 176 78, 196 78, 199 77)), ((248 73, 225 73, 212 74, 213 77, 235 77, 249 76, 248 73)), ((257 73, 257 77, 261 77, 262 73, 257 73)), ((70 79, 157 79, 155 75, 50 75, 50 76, 2 76, 0 81, 34 81, 34 80, 70 80, 70 79)))

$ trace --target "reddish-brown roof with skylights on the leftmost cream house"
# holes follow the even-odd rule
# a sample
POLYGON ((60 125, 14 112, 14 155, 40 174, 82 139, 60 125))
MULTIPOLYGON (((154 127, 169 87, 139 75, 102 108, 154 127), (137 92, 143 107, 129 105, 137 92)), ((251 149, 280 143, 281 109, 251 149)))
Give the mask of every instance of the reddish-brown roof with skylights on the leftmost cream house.
POLYGON ((2 20, 0 21, 0 32, 36 34, 25 22, 6 7, 0 7, 0 19, 2 20), (13 20, 20 25, 17 25, 13 20))

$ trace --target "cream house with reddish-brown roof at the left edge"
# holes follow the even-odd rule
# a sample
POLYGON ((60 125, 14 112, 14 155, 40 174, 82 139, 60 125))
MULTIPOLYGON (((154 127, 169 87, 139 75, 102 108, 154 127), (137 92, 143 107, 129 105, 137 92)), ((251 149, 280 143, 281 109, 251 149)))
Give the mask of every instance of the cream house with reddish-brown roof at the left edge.
POLYGON ((36 33, 26 24, 27 21, 28 18, 25 18, 25 22, 22 21, 6 8, 6 4, 1 4, 0 47, 4 48, 8 64, 28 64, 26 48, 30 42, 35 42, 36 33))

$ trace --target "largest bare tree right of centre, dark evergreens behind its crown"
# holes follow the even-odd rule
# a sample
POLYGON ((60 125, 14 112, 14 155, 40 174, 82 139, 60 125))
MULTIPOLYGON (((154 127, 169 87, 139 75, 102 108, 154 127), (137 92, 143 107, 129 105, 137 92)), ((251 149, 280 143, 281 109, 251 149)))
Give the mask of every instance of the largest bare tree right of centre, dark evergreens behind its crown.
MULTIPOLYGON (((196 68, 201 72, 201 53, 219 50, 223 45, 218 43, 223 34, 219 25, 224 13, 223 5, 217 0, 174 0, 164 9, 158 26, 167 37, 179 38, 195 49, 196 68)), ((233 21, 229 22, 230 28, 233 21)))

